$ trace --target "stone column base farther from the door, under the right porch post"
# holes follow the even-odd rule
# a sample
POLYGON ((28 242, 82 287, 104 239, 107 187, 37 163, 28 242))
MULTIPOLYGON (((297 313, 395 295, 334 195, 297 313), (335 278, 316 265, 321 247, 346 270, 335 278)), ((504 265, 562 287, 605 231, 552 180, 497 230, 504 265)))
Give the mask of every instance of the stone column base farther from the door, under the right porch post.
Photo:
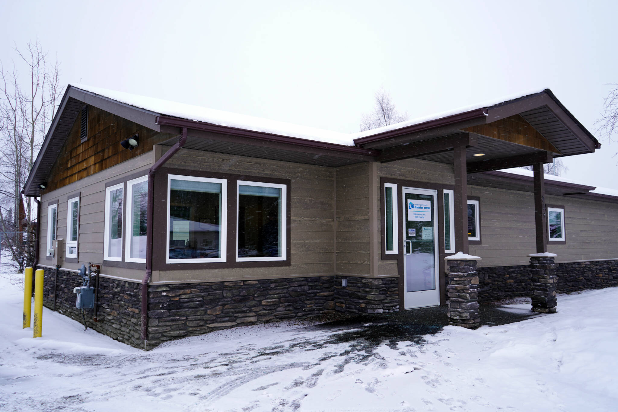
POLYGON ((554 253, 528 254, 530 258, 530 277, 532 278, 532 311, 556 313, 556 263, 554 253))

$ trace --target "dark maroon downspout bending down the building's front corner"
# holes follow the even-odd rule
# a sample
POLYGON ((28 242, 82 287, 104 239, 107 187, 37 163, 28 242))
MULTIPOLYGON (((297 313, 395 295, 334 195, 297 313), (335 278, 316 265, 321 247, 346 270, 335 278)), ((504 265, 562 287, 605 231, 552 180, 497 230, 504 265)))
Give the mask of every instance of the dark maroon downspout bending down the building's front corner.
POLYGON ((142 279, 142 340, 146 340, 146 332, 148 331, 148 321, 146 311, 148 310, 148 280, 153 274, 153 213, 154 191, 155 191, 155 172, 159 170, 174 154, 182 148, 187 142, 187 128, 182 128, 180 138, 168 151, 166 151, 158 161, 150 167, 148 171, 148 209, 146 210, 146 273, 142 279))

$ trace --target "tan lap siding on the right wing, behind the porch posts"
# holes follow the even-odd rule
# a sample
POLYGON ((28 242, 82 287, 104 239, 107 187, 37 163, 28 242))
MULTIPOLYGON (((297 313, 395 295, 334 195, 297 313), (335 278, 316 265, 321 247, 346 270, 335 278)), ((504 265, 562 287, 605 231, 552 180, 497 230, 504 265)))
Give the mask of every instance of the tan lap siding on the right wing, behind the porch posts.
MULTIPOLYGON (((479 196, 481 245, 470 245, 480 267, 528 264, 536 252, 533 193, 469 187, 479 196)), ((566 244, 548 243, 556 262, 618 258, 618 204, 546 196, 546 203, 565 208, 566 244)))

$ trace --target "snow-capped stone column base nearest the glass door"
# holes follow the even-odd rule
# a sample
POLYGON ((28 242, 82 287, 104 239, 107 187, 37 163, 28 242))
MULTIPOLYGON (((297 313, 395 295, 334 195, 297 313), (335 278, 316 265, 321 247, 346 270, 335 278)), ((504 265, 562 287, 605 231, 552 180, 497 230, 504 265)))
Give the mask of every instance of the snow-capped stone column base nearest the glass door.
POLYGON ((476 329, 480 325, 478 316, 478 256, 457 252, 444 258, 446 261, 446 292, 449 304, 449 323, 476 329))

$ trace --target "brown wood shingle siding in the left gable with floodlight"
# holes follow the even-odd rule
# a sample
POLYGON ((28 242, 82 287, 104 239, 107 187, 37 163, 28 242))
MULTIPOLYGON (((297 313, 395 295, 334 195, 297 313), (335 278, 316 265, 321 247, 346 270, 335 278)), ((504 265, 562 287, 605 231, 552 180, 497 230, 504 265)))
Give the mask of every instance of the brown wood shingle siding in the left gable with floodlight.
POLYGON ((48 177, 47 192, 77 182, 116 164, 150 151, 153 145, 173 137, 155 132, 130 120, 88 106, 87 138, 81 139, 82 121, 77 116, 69 136, 54 162, 48 177), (120 142, 138 135, 138 146, 122 148, 120 142))

